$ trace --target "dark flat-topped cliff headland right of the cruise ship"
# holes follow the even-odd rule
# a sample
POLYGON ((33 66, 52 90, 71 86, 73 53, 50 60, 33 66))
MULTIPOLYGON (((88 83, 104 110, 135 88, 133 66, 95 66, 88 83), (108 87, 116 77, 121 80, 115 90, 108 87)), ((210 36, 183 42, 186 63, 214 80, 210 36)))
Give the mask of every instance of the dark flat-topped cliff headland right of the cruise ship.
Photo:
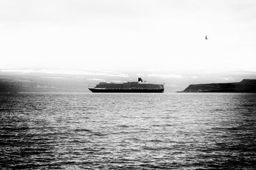
POLYGON ((210 83, 189 85, 182 92, 247 92, 256 93, 256 80, 244 79, 238 83, 210 83))

